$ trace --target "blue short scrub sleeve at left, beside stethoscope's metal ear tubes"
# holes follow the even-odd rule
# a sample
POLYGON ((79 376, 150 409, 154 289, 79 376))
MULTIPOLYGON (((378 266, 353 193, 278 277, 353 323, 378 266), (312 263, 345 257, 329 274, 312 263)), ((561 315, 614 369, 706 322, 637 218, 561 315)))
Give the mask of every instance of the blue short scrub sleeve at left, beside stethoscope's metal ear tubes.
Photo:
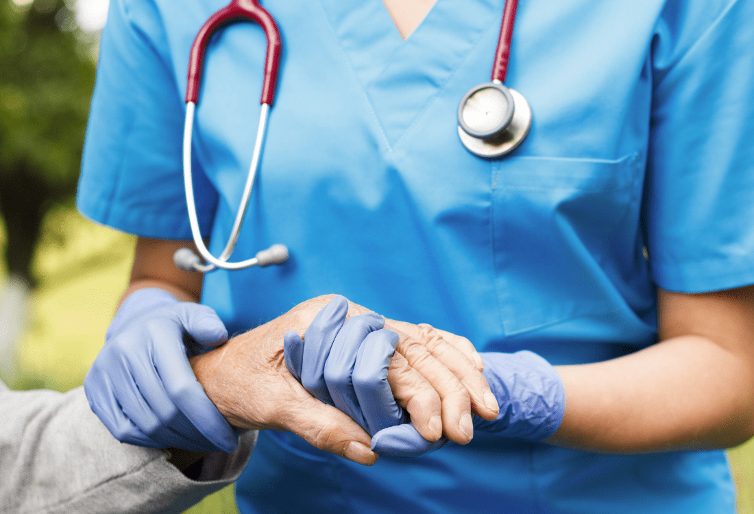
MULTIPOLYGON (((185 80, 179 87, 174 69, 158 8, 112 0, 78 185, 84 216, 143 237, 191 239, 182 178, 185 80)), ((209 234, 217 194, 196 159, 193 169, 198 218, 209 234)))

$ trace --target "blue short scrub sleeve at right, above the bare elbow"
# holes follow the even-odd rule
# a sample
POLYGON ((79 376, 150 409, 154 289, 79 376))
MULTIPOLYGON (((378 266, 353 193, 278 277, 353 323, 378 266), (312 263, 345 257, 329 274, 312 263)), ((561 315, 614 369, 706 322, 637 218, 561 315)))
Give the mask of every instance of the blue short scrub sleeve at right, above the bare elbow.
POLYGON ((654 35, 645 228, 658 286, 754 283, 754 2, 667 2, 654 35))

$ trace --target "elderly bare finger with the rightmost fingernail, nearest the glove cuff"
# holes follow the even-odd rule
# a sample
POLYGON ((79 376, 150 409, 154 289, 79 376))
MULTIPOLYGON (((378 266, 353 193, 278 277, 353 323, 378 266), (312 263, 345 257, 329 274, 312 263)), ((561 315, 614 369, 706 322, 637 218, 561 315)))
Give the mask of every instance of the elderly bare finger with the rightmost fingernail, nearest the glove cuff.
MULTIPOLYGON (((498 401, 477 366, 466 354, 450 344, 440 331, 425 323, 419 325, 418 329, 421 344, 464 385, 471 398, 471 407, 474 411, 486 420, 495 419, 500 411, 498 401)), ((444 333, 448 334, 448 332, 444 333)))

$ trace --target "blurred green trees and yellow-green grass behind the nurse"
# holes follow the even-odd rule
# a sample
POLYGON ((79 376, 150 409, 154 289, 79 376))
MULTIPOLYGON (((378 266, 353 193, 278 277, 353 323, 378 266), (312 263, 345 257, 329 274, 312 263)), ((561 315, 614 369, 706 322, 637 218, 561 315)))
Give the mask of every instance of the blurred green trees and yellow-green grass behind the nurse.
MULTIPOLYGON (((84 2, 106 0, 0 2, 0 375, 19 389, 81 385, 133 254, 73 207, 99 28, 84 2)), ((729 454, 754 514, 754 440, 729 454)), ((229 487, 187 512, 238 511, 229 487)))

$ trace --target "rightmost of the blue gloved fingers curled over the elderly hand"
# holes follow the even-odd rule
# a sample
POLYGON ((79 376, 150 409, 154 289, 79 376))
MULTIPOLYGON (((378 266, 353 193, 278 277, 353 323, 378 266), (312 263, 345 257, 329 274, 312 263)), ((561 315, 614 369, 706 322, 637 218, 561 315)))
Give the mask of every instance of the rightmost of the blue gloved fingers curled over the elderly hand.
POLYGON ((356 356, 352 375, 354 394, 372 435, 385 427, 407 421, 406 413, 397 405, 388 383, 388 367, 396 344, 398 335, 395 332, 377 330, 364 338, 356 356))

